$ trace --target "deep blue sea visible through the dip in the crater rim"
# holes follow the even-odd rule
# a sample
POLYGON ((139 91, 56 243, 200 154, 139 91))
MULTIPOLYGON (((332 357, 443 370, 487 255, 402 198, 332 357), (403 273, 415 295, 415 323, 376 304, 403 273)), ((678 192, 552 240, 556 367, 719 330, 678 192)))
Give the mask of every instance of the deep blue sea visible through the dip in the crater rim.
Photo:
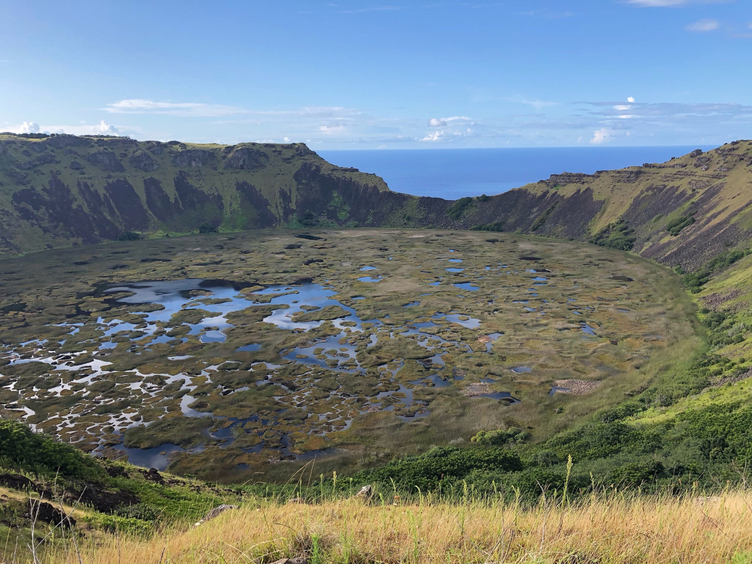
POLYGON ((374 172, 391 190, 457 199, 499 194, 560 172, 585 172, 665 162, 712 147, 535 147, 318 151, 339 166, 374 172))

